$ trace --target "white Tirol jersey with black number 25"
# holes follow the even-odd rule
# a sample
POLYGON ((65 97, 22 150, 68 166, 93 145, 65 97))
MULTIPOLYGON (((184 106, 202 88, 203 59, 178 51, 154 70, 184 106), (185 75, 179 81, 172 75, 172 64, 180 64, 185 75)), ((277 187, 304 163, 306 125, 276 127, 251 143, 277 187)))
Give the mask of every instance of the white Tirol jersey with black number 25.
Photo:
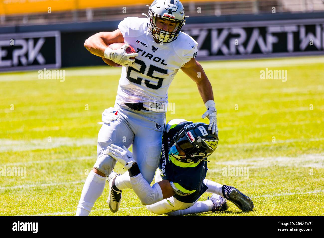
MULTIPOLYGON (((122 67, 116 103, 142 102, 166 105, 168 88, 179 68, 197 55, 198 43, 184 32, 170 43, 156 43, 147 30, 147 18, 126 17, 118 28, 124 42, 138 53, 132 66, 122 67)), ((163 111, 163 110, 161 110, 163 111)))

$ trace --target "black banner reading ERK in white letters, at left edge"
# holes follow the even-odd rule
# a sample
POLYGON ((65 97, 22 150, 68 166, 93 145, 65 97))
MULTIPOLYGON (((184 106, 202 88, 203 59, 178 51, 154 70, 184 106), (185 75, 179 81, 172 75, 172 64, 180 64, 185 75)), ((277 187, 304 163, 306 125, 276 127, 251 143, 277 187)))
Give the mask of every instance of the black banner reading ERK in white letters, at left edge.
POLYGON ((59 31, 0 34, 0 71, 60 67, 59 31))

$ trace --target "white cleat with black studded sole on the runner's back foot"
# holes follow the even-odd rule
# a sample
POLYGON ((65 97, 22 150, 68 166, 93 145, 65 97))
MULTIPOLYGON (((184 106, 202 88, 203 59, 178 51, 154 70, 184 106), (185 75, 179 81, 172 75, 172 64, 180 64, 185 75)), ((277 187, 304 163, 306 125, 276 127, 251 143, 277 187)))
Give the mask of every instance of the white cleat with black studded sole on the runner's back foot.
POLYGON ((115 179, 117 176, 118 174, 114 171, 112 171, 108 176, 109 196, 107 202, 111 212, 117 212, 119 209, 119 205, 121 204, 121 190, 118 190, 115 186, 115 179))

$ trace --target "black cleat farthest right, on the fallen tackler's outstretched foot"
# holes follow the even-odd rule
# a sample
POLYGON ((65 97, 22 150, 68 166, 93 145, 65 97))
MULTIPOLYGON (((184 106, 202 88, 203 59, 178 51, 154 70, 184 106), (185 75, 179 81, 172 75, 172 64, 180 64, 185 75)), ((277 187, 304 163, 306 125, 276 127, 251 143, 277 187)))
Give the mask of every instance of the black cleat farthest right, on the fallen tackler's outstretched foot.
POLYGON ((242 211, 253 211, 254 204, 248 196, 238 191, 235 187, 223 185, 224 198, 233 202, 242 211))

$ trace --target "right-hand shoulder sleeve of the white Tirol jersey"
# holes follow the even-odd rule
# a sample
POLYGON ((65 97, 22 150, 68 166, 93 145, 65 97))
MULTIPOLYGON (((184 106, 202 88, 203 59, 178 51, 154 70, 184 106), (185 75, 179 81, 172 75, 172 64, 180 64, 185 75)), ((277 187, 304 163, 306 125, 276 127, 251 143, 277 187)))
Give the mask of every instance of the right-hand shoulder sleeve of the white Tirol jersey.
POLYGON ((180 58, 182 58, 184 62, 183 65, 189 62, 191 58, 195 58, 197 56, 198 43, 187 33, 180 31, 178 38, 174 42, 176 42, 174 48, 180 58))

